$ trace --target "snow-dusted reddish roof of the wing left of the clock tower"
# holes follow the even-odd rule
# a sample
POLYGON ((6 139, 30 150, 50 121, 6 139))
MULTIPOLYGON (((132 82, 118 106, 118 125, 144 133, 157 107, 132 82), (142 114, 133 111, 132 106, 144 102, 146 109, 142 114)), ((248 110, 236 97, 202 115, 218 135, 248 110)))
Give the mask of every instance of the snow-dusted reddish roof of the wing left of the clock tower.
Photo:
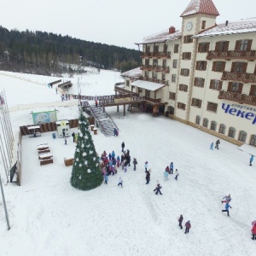
POLYGON ((143 38, 143 42, 136 44, 151 44, 151 43, 163 43, 167 40, 177 40, 181 38, 182 34, 179 30, 173 33, 169 33, 169 30, 155 33, 154 35, 143 38))

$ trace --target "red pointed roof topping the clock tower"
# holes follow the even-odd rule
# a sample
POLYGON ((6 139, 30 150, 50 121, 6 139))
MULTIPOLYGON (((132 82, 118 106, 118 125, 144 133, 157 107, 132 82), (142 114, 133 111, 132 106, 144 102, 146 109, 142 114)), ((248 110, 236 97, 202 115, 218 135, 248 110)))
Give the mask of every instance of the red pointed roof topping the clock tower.
POLYGON ((187 8, 183 11, 181 17, 195 14, 206 14, 218 16, 218 9, 216 9, 212 0, 191 0, 187 8))

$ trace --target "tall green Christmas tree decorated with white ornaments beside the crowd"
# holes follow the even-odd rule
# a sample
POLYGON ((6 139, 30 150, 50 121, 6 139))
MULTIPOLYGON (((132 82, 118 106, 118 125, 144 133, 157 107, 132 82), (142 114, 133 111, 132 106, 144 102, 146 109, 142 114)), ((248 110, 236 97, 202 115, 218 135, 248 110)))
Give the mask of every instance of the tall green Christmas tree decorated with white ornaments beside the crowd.
POLYGON ((73 170, 70 182, 76 189, 90 190, 102 184, 102 171, 99 157, 90 136, 90 127, 84 114, 80 112, 79 137, 74 154, 73 170))

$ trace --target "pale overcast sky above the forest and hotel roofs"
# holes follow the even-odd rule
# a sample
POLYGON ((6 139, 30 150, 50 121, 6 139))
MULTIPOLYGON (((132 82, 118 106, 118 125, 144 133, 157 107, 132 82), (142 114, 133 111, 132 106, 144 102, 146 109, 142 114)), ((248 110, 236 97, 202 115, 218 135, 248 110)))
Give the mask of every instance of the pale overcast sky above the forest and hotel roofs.
MULTIPOLYGON (((54 32, 137 49, 134 43, 175 26, 190 0, 1 0, 0 26, 54 32)), ((255 17, 255 0, 213 0, 217 23, 255 17)))

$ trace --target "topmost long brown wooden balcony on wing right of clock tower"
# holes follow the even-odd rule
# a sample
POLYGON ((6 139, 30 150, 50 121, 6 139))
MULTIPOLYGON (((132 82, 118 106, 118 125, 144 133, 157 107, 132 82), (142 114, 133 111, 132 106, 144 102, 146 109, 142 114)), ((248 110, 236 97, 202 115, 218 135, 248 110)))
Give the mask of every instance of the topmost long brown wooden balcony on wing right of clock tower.
POLYGON ((226 50, 226 51, 216 51, 210 50, 207 52, 207 60, 212 59, 222 59, 222 60, 256 60, 256 50, 226 50))

